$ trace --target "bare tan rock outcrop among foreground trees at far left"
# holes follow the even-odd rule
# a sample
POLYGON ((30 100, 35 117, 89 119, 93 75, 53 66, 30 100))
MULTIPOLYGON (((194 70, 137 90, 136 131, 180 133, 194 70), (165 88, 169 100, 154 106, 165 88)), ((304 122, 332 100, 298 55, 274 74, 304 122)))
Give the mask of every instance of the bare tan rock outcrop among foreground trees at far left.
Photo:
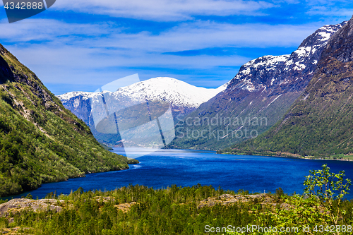
POLYGON ((7 203, 0 204, 0 217, 7 217, 10 212, 21 212, 23 210, 33 210, 35 212, 53 210, 55 212, 61 212, 62 207, 59 206, 61 203, 65 203, 65 201, 56 199, 32 200, 16 198, 7 203))

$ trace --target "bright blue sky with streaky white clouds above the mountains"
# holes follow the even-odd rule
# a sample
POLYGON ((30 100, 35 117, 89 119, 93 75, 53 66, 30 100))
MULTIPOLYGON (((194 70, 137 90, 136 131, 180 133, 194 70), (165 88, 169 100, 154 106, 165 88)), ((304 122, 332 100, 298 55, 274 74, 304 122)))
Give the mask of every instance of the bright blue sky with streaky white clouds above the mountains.
POLYGON ((56 0, 9 24, 1 4, 0 43, 55 95, 134 73, 216 88, 352 14, 352 1, 56 0))

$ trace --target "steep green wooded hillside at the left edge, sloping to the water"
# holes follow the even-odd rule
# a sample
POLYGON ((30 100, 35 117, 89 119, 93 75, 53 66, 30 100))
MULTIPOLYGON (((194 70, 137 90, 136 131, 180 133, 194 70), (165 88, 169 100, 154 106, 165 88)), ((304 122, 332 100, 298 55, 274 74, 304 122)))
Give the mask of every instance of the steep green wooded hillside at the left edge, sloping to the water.
POLYGON ((87 172, 127 169, 0 44, 0 196, 87 172))

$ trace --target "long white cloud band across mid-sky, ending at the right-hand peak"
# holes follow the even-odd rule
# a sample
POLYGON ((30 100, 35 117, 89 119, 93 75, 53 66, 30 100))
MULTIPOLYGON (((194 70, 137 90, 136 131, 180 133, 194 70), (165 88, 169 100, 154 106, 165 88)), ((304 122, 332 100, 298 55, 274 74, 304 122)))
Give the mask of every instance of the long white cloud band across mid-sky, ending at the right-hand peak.
MULTIPOLYGON (((155 35, 152 32, 126 33, 113 23, 78 24, 59 20, 25 20, 16 27, 1 24, 0 39, 7 42, 44 41, 59 45, 137 52, 180 52, 209 47, 293 47, 321 25, 266 25, 181 23, 155 35), (112 49, 113 48, 113 49, 112 49)), ((92 50, 95 52, 96 50, 92 50)))

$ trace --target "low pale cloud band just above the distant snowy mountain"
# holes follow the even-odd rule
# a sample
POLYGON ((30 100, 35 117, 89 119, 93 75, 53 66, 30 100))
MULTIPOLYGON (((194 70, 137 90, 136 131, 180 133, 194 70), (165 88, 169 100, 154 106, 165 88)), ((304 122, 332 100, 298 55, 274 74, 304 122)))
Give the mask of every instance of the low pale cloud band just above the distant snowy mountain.
MULTIPOLYGON (((44 71, 45 76, 40 78, 44 82, 51 83, 95 83, 95 78, 99 77, 97 74, 107 76, 106 73, 109 74, 110 69, 116 71, 117 68, 131 71, 140 67, 208 69, 216 66, 238 66, 249 61, 249 58, 237 55, 184 57, 136 52, 132 56, 127 56, 109 51, 100 53, 97 49, 74 46, 52 47, 50 44, 28 48, 10 46, 8 49, 33 71, 44 71)), ((116 74, 112 73, 109 76, 115 77, 116 74)))

